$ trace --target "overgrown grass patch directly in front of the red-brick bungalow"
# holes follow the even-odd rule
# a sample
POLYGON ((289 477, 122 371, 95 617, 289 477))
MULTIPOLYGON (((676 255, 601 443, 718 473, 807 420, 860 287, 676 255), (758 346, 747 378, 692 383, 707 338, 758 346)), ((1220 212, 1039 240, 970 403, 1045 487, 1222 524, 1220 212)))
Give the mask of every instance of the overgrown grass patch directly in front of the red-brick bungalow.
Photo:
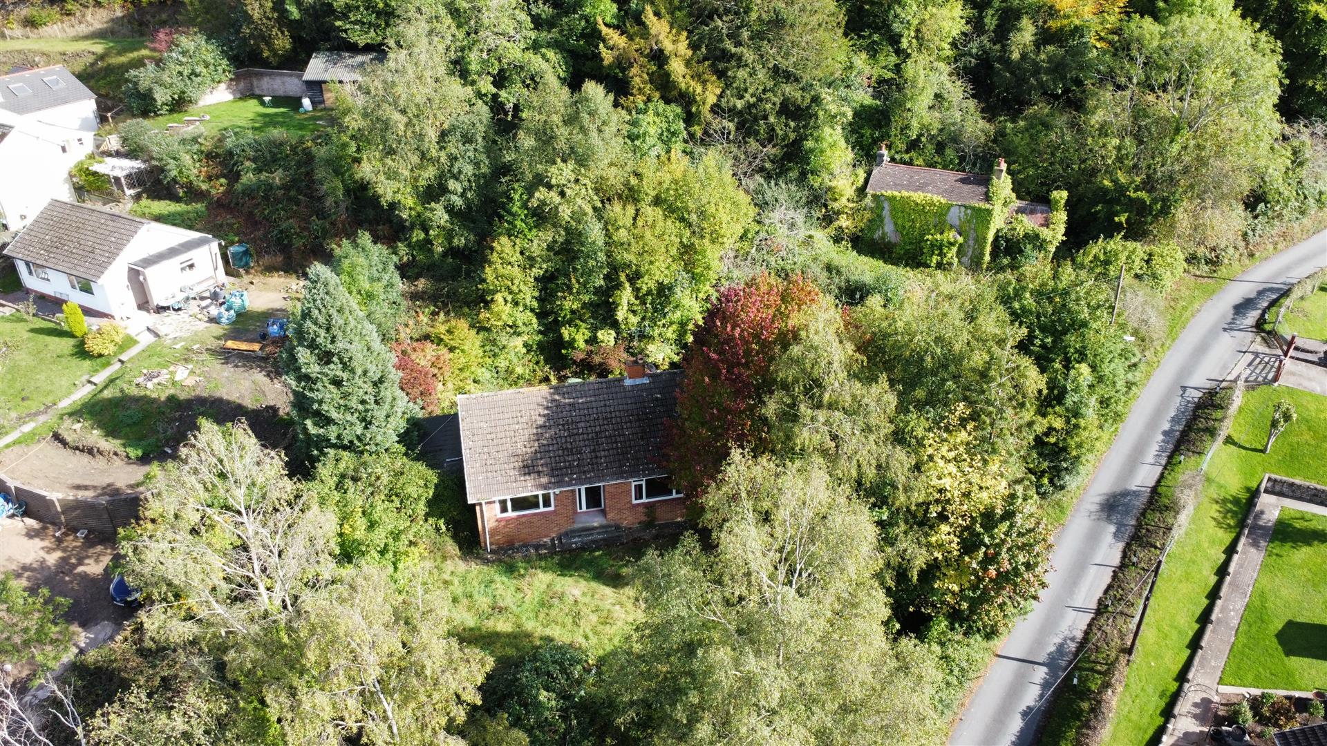
POLYGON ((455 560, 445 572, 458 634, 502 660, 548 641, 597 656, 640 617, 632 573, 645 547, 502 561, 455 560))

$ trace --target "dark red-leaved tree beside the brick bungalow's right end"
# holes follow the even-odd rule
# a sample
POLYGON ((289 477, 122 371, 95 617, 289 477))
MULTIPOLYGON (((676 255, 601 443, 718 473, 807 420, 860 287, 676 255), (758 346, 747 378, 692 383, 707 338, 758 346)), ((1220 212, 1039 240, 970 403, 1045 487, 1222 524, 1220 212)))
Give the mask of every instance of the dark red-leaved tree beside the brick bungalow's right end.
POLYGON ((669 457, 683 491, 701 494, 734 447, 759 446, 756 410, 770 365, 788 346, 799 312, 819 301, 820 291, 802 276, 759 275, 719 291, 682 360, 669 457))

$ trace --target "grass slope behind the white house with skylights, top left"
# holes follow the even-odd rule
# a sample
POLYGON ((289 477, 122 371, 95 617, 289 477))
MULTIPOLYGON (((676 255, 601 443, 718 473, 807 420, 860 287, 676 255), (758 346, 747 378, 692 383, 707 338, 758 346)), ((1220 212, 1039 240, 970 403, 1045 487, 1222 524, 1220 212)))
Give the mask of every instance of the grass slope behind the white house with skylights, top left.
POLYGON ((0 40, 0 69, 13 65, 65 65, 98 96, 119 100, 125 73, 159 57, 146 38, 8 38, 0 40))

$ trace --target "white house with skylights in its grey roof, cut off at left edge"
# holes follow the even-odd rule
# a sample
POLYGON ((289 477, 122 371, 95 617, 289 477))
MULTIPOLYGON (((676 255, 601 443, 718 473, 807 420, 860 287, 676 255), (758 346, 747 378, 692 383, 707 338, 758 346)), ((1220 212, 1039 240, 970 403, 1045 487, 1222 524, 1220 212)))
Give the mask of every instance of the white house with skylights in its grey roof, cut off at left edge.
POLYGON ((73 199, 69 169, 92 153, 97 96, 66 68, 0 76, 0 223, 23 228, 52 199, 73 199))

